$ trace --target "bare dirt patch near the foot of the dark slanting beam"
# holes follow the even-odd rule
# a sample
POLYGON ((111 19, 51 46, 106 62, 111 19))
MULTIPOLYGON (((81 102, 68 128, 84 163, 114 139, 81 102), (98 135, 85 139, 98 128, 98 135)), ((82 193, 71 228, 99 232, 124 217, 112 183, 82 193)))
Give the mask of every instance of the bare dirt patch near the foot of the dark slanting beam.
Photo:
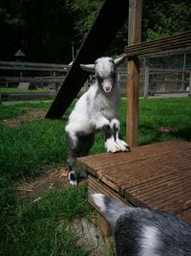
POLYGON ((3 120, 3 123, 11 128, 19 126, 25 121, 32 121, 34 119, 43 119, 47 113, 47 109, 32 109, 29 112, 16 116, 14 118, 3 120))

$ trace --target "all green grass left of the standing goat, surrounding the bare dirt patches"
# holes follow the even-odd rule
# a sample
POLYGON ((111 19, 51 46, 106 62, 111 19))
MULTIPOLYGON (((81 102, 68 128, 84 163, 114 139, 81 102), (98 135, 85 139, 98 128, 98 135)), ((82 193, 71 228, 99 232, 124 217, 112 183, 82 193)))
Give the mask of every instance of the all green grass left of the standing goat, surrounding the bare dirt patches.
MULTIPOLYGON (((1 120, 50 104, 1 105, 1 120)), ((70 111, 70 109, 69 109, 70 111)), ((23 201, 23 180, 66 164, 65 122, 35 120, 9 128, 0 123, 0 255, 84 255, 68 223, 91 211, 86 185, 23 201)))

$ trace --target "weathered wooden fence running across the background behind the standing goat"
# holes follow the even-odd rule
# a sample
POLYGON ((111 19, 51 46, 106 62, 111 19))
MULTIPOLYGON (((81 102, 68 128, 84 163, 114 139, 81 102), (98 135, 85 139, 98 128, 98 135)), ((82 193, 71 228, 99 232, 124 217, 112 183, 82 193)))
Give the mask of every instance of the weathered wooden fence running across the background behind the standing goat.
MULTIPOLYGON (((0 100, 53 99, 70 65, 0 61, 0 100)), ((126 96, 126 63, 118 69, 117 80, 126 96)), ((94 81, 91 76, 81 93, 94 81)), ((139 94, 191 93, 191 48, 140 57, 139 94)))

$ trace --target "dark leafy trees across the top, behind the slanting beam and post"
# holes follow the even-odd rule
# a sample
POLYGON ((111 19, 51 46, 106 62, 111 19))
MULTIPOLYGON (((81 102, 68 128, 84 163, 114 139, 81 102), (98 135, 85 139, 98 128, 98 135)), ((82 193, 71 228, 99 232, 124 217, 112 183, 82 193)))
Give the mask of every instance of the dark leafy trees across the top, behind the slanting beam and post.
MULTIPOLYGON (((30 61, 72 60, 90 30, 102 0, 0 0, 0 56, 12 60, 18 49, 30 61)), ((142 40, 190 30, 190 0, 143 1, 142 40)), ((115 17, 114 17, 115 18, 115 17)), ((117 55, 127 44, 128 21, 107 54, 117 55)))

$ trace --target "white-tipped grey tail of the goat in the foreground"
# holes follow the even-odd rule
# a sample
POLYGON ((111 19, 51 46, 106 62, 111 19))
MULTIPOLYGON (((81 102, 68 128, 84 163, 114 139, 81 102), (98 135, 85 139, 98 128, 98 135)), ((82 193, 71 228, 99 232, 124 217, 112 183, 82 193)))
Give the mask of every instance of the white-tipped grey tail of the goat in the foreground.
POLYGON ((92 198, 105 219, 109 221, 113 227, 118 217, 122 212, 124 212, 126 207, 124 207, 118 200, 103 194, 93 194, 92 198))

